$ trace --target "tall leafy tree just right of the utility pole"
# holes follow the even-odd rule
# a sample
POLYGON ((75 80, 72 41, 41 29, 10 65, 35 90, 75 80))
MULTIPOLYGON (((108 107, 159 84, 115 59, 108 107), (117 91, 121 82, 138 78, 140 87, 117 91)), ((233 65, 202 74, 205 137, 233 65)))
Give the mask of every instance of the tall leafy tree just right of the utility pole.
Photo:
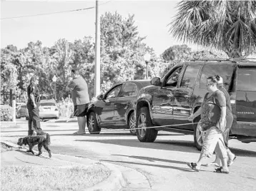
POLYGON ((143 56, 147 52, 152 58, 155 55, 143 40, 134 26, 134 15, 122 18, 116 12, 101 17, 102 92, 119 81, 144 78, 146 65, 143 56))

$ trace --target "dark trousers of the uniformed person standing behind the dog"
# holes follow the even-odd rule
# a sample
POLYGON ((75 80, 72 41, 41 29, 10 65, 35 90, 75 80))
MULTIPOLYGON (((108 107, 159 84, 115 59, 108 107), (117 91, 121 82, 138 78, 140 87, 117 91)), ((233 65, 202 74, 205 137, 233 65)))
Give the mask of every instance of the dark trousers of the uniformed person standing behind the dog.
POLYGON ((40 127, 38 106, 39 105, 37 105, 36 108, 34 108, 34 106, 31 105, 30 103, 26 104, 26 107, 29 110, 29 132, 28 132, 29 135, 33 135, 34 130, 36 131, 37 135, 44 135, 44 132, 43 130, 41 130, 41 127, 40 127), (32 124, 33 124, 34 130, 32 130, 32 124))

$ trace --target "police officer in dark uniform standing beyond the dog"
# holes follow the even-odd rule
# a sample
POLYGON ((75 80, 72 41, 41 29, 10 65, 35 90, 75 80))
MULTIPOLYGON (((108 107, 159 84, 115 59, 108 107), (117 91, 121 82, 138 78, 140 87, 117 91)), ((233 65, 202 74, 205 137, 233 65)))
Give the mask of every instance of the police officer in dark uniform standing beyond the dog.
POLYGON ((37 76, 32 76, 30 78, 29 86, 27 87, 28 102, 26 107, 29 110, 29 135, 33 135, 34 130, 37 135, 44 135, 45 133, 41 130, 40 127, 40 117, 39 117, 39 104, 40 104, 40 94, 39 88, 39 78, 37 76), (32 122, 33 128, 32 130, 32 122))

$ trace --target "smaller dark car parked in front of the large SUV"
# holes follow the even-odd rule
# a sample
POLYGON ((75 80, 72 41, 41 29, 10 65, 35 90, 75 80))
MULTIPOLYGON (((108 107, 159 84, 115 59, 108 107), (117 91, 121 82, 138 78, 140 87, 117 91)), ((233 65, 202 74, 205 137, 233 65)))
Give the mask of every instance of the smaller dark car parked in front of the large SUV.
POLYGON ((135 135, 134 105, 137 94, 149 80, 125 81, 115 84, 89 105, 87 127, 89 133, 99 134, 102 128, 128 128, 135 135))

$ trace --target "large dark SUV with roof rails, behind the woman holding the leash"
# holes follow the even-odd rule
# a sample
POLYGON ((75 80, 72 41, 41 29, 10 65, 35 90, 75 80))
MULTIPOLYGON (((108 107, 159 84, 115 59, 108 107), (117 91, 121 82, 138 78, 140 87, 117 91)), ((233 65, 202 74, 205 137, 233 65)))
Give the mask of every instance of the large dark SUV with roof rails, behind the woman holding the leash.
MULTIPOLYGON (((256 141, 256 62, 247 60, 195 60, 174 66, 162 78, 152 78, 152 86, 139 91, 136 104, 137 138, 154 142, 159 130, 194 134, 195 145, 202 148, 201 132, 191 123, 205 96, 207 77, 220 75, 230 93, 234 121, 230 137, 243 143, 256 141), (162 126, 162 128, 148 128, 162 126), (179 126, 177 126, 179 125, 179 126)), ((194 123, 200 121, 200 116, 194 123)))

